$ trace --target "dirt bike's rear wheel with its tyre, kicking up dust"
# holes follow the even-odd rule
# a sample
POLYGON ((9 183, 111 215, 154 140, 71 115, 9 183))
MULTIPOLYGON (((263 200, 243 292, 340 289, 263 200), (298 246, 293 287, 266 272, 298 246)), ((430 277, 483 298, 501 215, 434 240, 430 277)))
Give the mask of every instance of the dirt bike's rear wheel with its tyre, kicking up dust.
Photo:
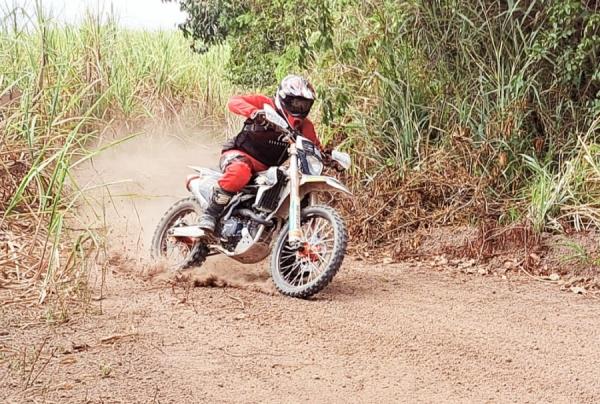
POLYGON ((169 230, 198 223, 202 208, 195 198, 185 198, 167 210, 158 223, 152 238, 152 258, 167 263, 169 268, 184 269, 202 265, 208 254, 205 244, 194 240, 175 239, 169 230))

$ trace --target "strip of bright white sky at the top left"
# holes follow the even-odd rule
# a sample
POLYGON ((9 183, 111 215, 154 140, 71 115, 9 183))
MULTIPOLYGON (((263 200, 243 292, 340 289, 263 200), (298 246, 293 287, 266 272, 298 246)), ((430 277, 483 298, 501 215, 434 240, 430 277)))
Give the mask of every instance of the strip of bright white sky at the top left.
MULTIPOLYGON (((86 10, 108 12, 111 8, 118 16, 120 25, 128 28, 175 29, 185 19, 177 2, 161 0, 38 0, 45 9, 51 10, 54 19, 77 23, 86 10)), ((0 0, 0 14, 12 6, 33 10, 36 0, 0 0)))

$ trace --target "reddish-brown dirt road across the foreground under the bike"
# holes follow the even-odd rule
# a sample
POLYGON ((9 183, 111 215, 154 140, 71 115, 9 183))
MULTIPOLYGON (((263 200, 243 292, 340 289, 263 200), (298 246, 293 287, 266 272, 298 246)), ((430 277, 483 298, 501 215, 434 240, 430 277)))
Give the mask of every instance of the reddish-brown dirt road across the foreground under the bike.
POLYGON ((32 374, 47 364, 24 391, 2 366, 0 395, 8 402, 600 399, 594 299, 523 278, 349 260, 326 292, 302 301, 264 293, 261 271, 235 276, 244 269, 225 263, 208 271, 219 268, 217 283, 238 287, 157 288, 119 273, 101 315, 45 333, 9 327, 0 346, 11 352, 47 336, 32 374))

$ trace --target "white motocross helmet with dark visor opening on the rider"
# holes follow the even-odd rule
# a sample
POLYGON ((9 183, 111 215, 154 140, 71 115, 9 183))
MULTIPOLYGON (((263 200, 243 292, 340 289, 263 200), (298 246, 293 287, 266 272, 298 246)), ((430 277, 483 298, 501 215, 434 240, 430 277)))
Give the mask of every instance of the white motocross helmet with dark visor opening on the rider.
POLYGON ((315 102, 315 89, 310 82, 296 75, 286 76, 277 88, 275 104, 294 118, 306 118, 315 102))

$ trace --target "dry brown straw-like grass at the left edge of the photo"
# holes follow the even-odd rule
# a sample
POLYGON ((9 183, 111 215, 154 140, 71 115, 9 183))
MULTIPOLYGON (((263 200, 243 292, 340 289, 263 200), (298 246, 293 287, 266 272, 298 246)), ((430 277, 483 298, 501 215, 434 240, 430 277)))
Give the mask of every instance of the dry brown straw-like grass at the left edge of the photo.
MULTIPOLYGON (((56 240, 52 236, 50 216, 40 212, 32 197, 35 186, 29 184, 24 198, 10 215, 4 215, 32 161, 22 145, 7 145, 0 156, 0 300, 44 302, 49 294, 83 296, 87 267, 99 244, 94 236, 80 234, 56 240)), ((42 175, 42 181, 49 177, 42 175)))

